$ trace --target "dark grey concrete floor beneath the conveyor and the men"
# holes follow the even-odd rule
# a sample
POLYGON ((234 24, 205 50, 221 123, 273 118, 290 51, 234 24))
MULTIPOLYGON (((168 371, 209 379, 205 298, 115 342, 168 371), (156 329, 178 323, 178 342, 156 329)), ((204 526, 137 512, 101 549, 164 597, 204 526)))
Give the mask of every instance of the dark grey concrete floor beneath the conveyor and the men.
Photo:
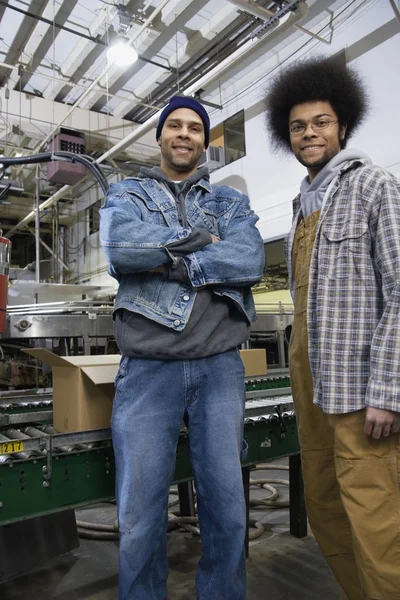
MULTIPOLYGON (((253 478, 287 478, 287 473, 262 472, 253 478)), ((287 497, 286 486, 276 486, 287 497)), ((252 497, 268 492, 251 488, 252 497)), ((97 505, 77 511, 86 521, 112 523, 115 506, 97 505)), ((263 523, 262 537, 250 543, 247 600, 337 600, 339 590, 313 537, 288 533, 288 509, 252 510, 263 523)), ((81 546, 45 566, 0 585, 1 600, 117 600, 116 542, 81 540, 81 546)), ((191 533, 168 535, 171 600, 194 600, 194 576, 201 554, 200 539, 191 533)))

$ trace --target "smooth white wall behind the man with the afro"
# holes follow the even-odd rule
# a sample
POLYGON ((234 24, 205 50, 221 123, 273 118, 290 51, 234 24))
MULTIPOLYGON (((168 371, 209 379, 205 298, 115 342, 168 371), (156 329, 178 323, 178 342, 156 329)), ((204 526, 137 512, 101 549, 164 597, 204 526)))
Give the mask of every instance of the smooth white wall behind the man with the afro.
MULTIPOLYGON (((351 49, 355 42, 393 19, 394 13, 389 2, 370 3, 364 10, 355 13, 348 23, 343 23, 339 31, 335 32, 331 46, 313 42, 312 52, 308 56, 321 53, 330 55, 347 47, 351 49)), ((398 30, 400 31, 400 24, 398 30)), ((366 39, 365 49, 367 44, 373 41, 376 43, 375 38, 366 39)), ((362 48, 363 44, 360 46, 362 48)), ((288 46, 280 58, 283 59, 285 54, 289 55, 292 52, 293 47, 288 46)), ((349 56, 351 58, 351 53, 349 56)), ((400 33, 365 51, 350 63, 359 70, 368 87, 371 110, 359 132, 349 142, 349 147, 360 148, 374 163, 390 168, 400 176, 400 80, 397 67, 399 56, 400 33)), ((267 80, 262 85, 265 89, 267 80)), ((261 97, 261 87, 259 92, 258 97, 261 97)), ((233 102, 219 116, 214 113, 212 124, 216 125, 232 115, 235 112, 232 105, 233 102)), ((235 108, 240 110, 239 101, 235 108)), ((211 179, 213 183, 230 183, 247 191, 252 208, 260 216, 260 232, 264 240, 270 240, 282 237, 288 232, 291 201, 298 192, 306 170, 291 155, 271 152, 260 102, 249 107, 245 114, 247 155, 215 171, 211 179)))

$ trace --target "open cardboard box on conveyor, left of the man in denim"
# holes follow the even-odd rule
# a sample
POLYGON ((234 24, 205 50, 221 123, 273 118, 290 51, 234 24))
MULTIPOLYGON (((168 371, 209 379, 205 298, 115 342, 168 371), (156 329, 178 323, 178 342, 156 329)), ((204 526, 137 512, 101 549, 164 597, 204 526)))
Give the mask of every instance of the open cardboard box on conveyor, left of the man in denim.
POLYGON ((60 433, 110 427, 114 379, 121 356, 57 356, 25 350, 53 370, 53 423, 60 433))

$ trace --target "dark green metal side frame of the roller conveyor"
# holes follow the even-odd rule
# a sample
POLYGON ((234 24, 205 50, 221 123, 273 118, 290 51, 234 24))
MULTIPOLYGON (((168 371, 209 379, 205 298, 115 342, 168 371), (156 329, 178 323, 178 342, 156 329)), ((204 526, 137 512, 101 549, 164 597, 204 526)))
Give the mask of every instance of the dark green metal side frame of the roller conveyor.
MULTIPOLYGON (((248 454, 243 466, 299 452, 294 414, 250 421, 244 437, 248 454)), ((0 526, 113 499, 114 453, 110 440, 103 444, 87 451, 53 453, 50 470, 49 456, 0 464, 0 526)), ((192 478, 187 434, 181 433, 174 483, 192 478)))

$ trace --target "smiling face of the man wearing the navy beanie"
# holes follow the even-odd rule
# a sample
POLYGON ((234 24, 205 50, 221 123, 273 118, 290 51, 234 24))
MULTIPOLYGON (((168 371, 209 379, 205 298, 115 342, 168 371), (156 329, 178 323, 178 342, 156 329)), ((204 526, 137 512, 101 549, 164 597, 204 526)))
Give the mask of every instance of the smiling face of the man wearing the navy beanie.
POLYGON ((178 108, 168 115, 158 145, 161 169, 172 181, 182 181, 197 170, 204 151, 204 125, 190 108, 178 108))

